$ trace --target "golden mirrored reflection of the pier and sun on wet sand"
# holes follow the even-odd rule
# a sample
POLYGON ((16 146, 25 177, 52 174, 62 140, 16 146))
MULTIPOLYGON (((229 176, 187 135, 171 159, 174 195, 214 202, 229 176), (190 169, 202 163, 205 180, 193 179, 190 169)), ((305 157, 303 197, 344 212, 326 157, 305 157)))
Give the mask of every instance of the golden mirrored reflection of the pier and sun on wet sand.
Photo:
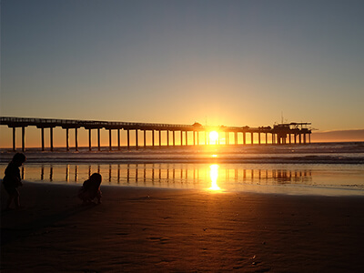
POLYGON ((109 165, 25 165, 22 177, 28 181, 83 183, 92 173, 103 176, 108 185, 134 187, 222 188, 244 185, 307 184, 310 169, 244 168, 241 165, 207 164, 109 164, 109 165), (25 175, 26 174, 26 175, 25 175), (40 174, 40 175, 39 175, 40 174))

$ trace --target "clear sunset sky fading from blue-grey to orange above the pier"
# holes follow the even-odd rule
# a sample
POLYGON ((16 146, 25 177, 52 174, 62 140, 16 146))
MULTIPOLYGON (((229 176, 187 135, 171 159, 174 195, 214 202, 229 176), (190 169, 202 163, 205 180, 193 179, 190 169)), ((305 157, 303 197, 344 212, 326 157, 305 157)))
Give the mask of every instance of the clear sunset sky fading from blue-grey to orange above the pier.
POLYGON ((363 129, 363 25, 362 0, 3 0, 0 114, 363 129))

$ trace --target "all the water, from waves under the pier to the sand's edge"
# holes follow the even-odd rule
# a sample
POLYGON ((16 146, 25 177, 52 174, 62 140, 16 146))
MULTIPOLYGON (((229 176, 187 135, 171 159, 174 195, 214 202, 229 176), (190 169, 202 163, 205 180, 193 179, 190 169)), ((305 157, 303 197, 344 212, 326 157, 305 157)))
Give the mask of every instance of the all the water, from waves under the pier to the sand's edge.
MULTIPOLYGON (((0 150, 4 174, 14 152, 0 150)), ((308 145, 139 147, 54 152, 29 148, 25 182, 82 185, 92 173, 102 186, 189 188, 212 192, 364 196, 364 142, 308 145)))

